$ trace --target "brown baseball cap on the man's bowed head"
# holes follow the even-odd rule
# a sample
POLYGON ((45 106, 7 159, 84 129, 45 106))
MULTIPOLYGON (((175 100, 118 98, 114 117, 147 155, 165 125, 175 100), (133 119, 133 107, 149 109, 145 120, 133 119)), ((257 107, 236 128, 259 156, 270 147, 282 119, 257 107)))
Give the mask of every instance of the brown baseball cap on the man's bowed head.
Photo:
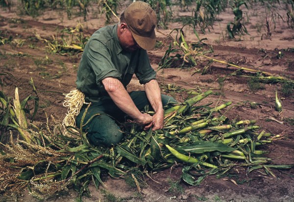
POLYGON ((143 1, 135 1, 124 10, 124 18, 137 44, 145 50, 153 49, 157 18, 151 6, 143 1))

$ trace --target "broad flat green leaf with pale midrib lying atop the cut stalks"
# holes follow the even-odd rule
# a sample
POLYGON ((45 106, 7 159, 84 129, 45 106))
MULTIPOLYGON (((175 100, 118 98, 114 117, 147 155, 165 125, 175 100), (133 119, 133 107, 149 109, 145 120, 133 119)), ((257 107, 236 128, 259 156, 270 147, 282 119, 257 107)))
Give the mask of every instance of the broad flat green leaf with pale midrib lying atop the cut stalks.
POLYGON ((230 152, 236 150, 236 148, 231 148, 223 143, 218 142, 207 142, 207 141, 196 141, 193 145, 178 147, 178 151, 185 151, 191 153, 204 153, 207 151, 221 151, 230 152))

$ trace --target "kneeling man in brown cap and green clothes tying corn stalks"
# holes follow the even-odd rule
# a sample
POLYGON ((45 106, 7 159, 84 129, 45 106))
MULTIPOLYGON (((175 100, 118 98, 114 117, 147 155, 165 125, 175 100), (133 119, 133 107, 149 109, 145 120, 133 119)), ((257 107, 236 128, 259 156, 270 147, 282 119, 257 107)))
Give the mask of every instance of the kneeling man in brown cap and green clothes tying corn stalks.
MULTIPOLYGON (((156 14, 150 5, 136 1, 122 13, 119 24, 98 29, 87 42, 76 85, 85 101, 91 102, 83 128, 92 144, 119 143, 123 132, 116 121, 123 121, 126 115, 144 129, 163 128, 163 105, 175 100, 161 95, 147 56, 146 50, 155 45, 155 25, 156 14), (145 92, 126 91, 133 74, 144 84, 145 92), (155 111, 153 116, 141 112, 147 104, 155 111)), ((84 104, 76 117, 77 126, 86 107, 84 104)))

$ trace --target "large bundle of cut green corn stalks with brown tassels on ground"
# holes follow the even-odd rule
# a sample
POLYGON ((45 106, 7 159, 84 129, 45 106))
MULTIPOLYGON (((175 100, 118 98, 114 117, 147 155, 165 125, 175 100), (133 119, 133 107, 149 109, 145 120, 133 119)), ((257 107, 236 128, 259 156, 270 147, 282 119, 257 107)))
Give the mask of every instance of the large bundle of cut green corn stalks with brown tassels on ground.
MULTIPOLYGON (((203 102, 210 94, 209 90, 166 108, 162 130, 144 131, 140 126, 128 124, 123 142, 112 148, 89 144, 82 131, 83 118, 79 128, 69 128, 73 137, 64 135, 61 124, 54 119, 53 126, 48 122, 46 130, 33 125, 25 129, 31 134, 30 143, 11 134, 9 143, 0 144, 0 193, 20 193, 27 186, 34 197, 45 200, 71 186, 82 197, 89 194, 90 183, 97 188, 104 186, 102 173, 129 177, 141 190, 138 176, 132 172, 134 167, 147 173, 180 162, 182 179, 191 185, 237 165, 250 166, 248 173, 265 169, 269 175, 273 175, 270 168, 294 166, 270 165, 270 159, 263 156, 267 151, 259 146, 271 143, 275 136, 264 130, 258 132, 255 120, 229 121, 221 110, 232 102, 215 105, 203 102)), ((6 101, 5 106, 12 105, 6 101)), ((16 130, 14 133, 20 134, 16 130)))

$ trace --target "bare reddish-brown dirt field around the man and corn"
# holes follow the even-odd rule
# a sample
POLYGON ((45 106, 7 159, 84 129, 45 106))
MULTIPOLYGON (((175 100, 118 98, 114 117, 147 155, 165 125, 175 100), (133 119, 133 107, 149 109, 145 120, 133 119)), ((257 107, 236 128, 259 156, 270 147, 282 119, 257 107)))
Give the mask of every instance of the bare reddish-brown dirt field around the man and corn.
MULTIPOLYGON (((280 8, 279 13, 285 16, 286 12, 280 8)), ((180 12, 177 7, 173 8, 174 16, 191 15, 191 12, 180 12)), ((270 72, 275 75, 287 76, 294 79, 294 30, 290 29, 286 22, 276 21, 275 31, 270 39, 261 40, 262 34, 266 33, 264 26, 265 13, 263 8, 254 12, 248 12, 249 22, 246 23, 250 35, 242 36, 241 41, 228 40, 223 37, 226 24, 233 19, 232 11, 222 13, 218 17, 218 22, 214 25, 214 30, 202 34, 200 38, 207 38, 207 43, 212 45, 214 53, 210 56, 230 61, 243 67, 251 69, 258 68, 261 71, 270 72), (292 49, 292 51, 289 51, 292 49), (288 49, 288 51, 287 51, 288 49), (278 52, 283 53, 282 58, 278 58, 278 52)), ((84 35, 90 36, 105 22, 105 17, 97 15, 95 6, 90 9, 88 21, 84 22, 82 17, 73 17, 68 20, 65 11, 45 11, 39 17, 33 19, 28 16, 18 16, 16 10, 9 12, 0 11, 0 36, 13 39, 26 39, 23 47, 12 45, 0 46, 0 73, 10 73, 14 76, 1 76, 4 83, 4 92, 12 96, 15 87, 19 87, 20 95, 25 98, 31 93, 29 81, 31 77, 39 91, 41 109, 37 115, 37 123, 46 121, 45 112, 53 115, 57 120, 63 120, 66 108, 62 103, 64 96, 75 88, 77 67, 81 53, 68 55, 49 53, 46 44, 35 38, 35 33, 42 38, 50 39, 58 30, 64 27, 74 27, 80 21, 84 25, 84 35), (21 20, 16 20, 21 19, 21 20), (29 45, 30 44, 30 45, 29 45), (32 46, 32 44, 34 46, 32 46), (44 58, 49 57, 50 62, 45 63, 44 58), (43 61, 43 62, 42 62, 43 61)), ((157 40, 163 46, 149 51, 149 58, 154 69, 158 68, 158 63, 167 50, 170 40, 166 37, 173 28, 180 28, 180 23, 169 23, 168 29, 157 29, 157 40)), ((196 37, 191 29, 185 30, 186 40, 196 41, 196 37)), ((199 67, 201 68, 201 64, 199 67)), ((214 63, 206 75, 194 74, 195 68, 190 69, 163 69, 158 71, 158 81, 163 86, 163 93, 169 94, 183 101, 187 95, 169 91, 166 84, 179 86, 180 88, 195 89, 202 91, 212 89, 214 95, 207 101, 217 103, 222 101, 233 101, 232 107, 227 113, 228 118, 245 120, 256 119, 257 124, 266 131, 273 134, 283 135, 282 139, 273 141, 272 144, 264 146, 269 150, 268 156, 272 158, 273 164, 294 164, 294 95, 282 96, 282 83, 262 83, 263 89, 250 90, 248 82, 250 78, 241 76, 229 76, 237 69, 226 67, 225 65, 214 63), (275 91, 282 97, 283 111, 278 113, 274 109, 275 91), (272 121, 275 119, 277 121, 272 121), (279 122, 279 123, 278 123, 279 122)), ((128 90, 138 90, 137 78, 133 78, 128 90)), ((254 171, 246 175, 246 169, 236 167, 230 171, 230 177, 217 179, 216 176, 207 177, 200 186, 188 186, 184 182, 180 185, 184 192, 169 191, 171 184, 169 181, 179 180, 181 176, 181 164, 172 169, 160 173, 150 174, 153 179, 146 177, 146 186, 142 190, 142 195, 136 195, 136 188, 129 187, 123 179, 113 179, 105 177, 105 185, 109 193, 120 197, 124 201, 147 201, 147 202, 168 202, 168 201, 230 201, 230 202, 293 202, 294 201, 294 169, 273 170, 276 177, 264 175, 262 172, 254 171), (240 182, 235 185, 232 181, 240 182)), ((84 201, 107 201, 108 198, 101 190, 90 187, 92 197, 83 198, 84 201)), ((102 189, 102 188, 101 188, 102 189)), ((52 199, 53 201, 75 201, 77 194, 71 190, 69 195, 52 199)), ((3 198, 2 200, 7 200, 3 198)), ((9 198, 8 201, 14 201, 9 198)), ((37 201, 24 193, 18 198, 20 201, 37 201)))

